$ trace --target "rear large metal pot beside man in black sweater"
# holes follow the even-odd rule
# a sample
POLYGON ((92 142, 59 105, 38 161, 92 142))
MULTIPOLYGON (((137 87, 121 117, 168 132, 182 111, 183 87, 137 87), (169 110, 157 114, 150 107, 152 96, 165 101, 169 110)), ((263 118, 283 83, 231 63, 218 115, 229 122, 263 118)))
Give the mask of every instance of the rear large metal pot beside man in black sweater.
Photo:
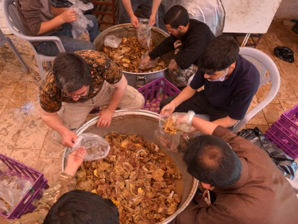
MULTIPOLYGON (((151 33, 152 33, 152 36, 151 36, 152 43, 153 43, 153 46, 155 47, 159 45, 160 42, 162 42, 167 36, 169 36, 168 33, 164 32, 163 30, 157 27, 152 27, 151 33)), ((130 23, 125 23, 125 24, 119 24, 116 26, 112 26, 108 29, 105 29, 93 41, 93 44, 97 51, 102 50, 102 48, 104 47, 103 41, 105 39, 105 36, 108 36, 108 35, 114 35, 118 38, 122 38, 122 37, 127 38, 128 36, 136 36, 136 28, 133 27, 130 23)), ((161 56, 161 59, 164 60, 164 62, 167 64, 169 64, 170 60, 173 58, 174 58, 173 51, 161 56)), ((148 73, 134 73, 134 72, 126 72, 126 71, 122 71, 122 72, 128 81, 128 85, 131 85, 134 88, 139 88, 161 76, 170 80, 168 67, 156 72, 148 72, 148 73)))

